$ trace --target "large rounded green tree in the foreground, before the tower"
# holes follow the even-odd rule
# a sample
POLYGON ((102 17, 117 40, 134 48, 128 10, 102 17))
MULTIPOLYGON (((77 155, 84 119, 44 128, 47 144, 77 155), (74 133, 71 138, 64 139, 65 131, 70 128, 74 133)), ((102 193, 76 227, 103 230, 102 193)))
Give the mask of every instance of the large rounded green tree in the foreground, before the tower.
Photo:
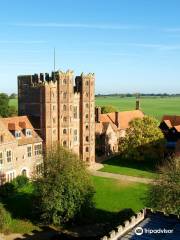
POLYGON ((35 204, 46 223, 64 224, 93 207, 90 177, 75 154, 57 146, 47 153, 44 162, 35 204))

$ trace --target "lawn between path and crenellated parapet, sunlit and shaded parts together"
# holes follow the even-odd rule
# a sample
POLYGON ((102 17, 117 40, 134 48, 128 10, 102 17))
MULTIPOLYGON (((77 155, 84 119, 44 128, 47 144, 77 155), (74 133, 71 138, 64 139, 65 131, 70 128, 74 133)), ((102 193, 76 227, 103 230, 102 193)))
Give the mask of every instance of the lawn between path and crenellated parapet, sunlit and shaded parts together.
POLYGON ((148 185, 95 176, 92 179, 96 209, 89 218, 104 224, 106 233, 145 207, 148 185))

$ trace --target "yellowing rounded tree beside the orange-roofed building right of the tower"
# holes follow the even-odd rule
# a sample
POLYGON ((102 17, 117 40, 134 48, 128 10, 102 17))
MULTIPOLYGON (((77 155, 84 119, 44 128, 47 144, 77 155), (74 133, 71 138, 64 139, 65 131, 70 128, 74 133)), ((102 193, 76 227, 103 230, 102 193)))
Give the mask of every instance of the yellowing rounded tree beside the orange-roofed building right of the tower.
POLYGON ((119 149, 124 158, 137 161, 161 161, 165 140, 158 121, 145 116, 130 122, 126 135, 120 138, 119 149))

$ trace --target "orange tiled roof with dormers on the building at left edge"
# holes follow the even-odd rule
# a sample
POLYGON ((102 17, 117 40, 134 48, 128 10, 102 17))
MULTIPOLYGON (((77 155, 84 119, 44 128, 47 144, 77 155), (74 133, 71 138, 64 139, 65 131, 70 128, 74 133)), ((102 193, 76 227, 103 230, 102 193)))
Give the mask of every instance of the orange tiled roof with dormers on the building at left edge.
POLYGON ((33 129, 33 126, 30 123, 27 116, 1 118, 0 121, 3 123, 4 127, 9 132, 11 137, 14 140, 17 140, 18 145, 27 145, 42 142, 42 139, 33 129), (32 136, 26 136, 25 132, 23 131, 25 129, 31 129, 32 136), (20 138, 15 138, 15 136, 12 134, 12 131, 20 131, 21 132, 20 138))

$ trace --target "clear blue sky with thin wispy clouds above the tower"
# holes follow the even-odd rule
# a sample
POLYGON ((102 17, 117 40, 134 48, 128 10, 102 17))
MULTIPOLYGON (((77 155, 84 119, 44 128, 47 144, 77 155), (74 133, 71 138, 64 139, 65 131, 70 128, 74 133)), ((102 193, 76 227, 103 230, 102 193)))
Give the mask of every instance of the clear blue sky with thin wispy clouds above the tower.
POLYGON ((17 75, 96 74, 96 93, 180 92, 179 0, 1 0, 0 92, 17 75))

